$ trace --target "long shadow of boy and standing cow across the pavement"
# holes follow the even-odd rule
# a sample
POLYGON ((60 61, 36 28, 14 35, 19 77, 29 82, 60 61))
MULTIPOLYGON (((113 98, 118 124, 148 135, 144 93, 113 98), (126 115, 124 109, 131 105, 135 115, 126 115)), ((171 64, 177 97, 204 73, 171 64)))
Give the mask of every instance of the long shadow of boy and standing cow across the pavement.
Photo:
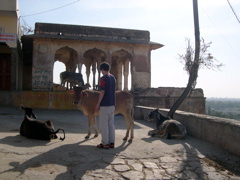
MULTIPOLYGON (((82 145, 84 141, 62 145, 41 153, 23 163, 12 161, 9 163, 12 168, 2 173, 11 171, 20 172, 19 177, 28 170, 34 171, 34 169, 36 171, 45 170, 54 173, 56 169, 51 170, 51 165, 54 164, 66 167, 66 172, 58 174, 55 179, 69 179, 69 177, 79 179, 86 171, 105 169, 119 152, 124 151, 129 146, 129 143, 123 142, 115 149, 106 150, 90 145, 82 145)), ((41 145, 41 143, 39 145, 41 145)))

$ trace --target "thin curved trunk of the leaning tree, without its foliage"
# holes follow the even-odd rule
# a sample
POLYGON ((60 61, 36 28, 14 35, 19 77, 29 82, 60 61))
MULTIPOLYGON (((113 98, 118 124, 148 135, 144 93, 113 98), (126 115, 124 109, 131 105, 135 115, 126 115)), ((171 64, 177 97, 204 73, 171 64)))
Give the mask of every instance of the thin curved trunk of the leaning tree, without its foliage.
POLYGON ((199 21, 198 21, 198 3, 197 0, 193 0, 193 14, 194 14, 194 29, 195 29, 195 56, 191 72, 189 74, 188 84, 181 96, 173 104, 168 116, 173 118, 175 111, 179 108, 182 102, 185 100, 187 95, 192 91, 193 85, 197 81, 198 68, 199 68, 199 53, 200 53, 200 32, 199 32, 199 21))

